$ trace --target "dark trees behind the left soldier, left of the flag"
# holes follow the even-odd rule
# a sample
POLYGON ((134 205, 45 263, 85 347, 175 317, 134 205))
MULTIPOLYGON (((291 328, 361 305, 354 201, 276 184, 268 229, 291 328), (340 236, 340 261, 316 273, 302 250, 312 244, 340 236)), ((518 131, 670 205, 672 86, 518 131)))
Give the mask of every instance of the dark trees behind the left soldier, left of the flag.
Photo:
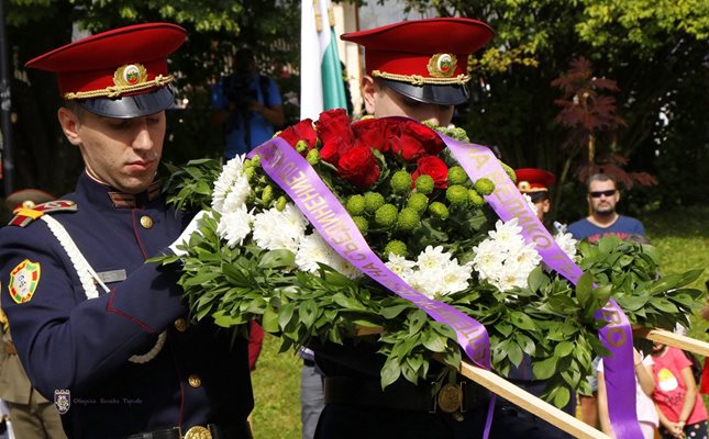
MULTIPOLYGON (((209 86, 231 71, 230 55, 237 48, 253 47, 265 70, 277 77, 281 66, 299 56, 299 48, 286 43, 297 42, 300 32, 296 0, 10 0, 5 13, 14 69, 15 187, 55 194, 74 189, 82 165, 56 121, 60 99, 54 76, 25 69, 24 64, 69 42, 74 31, 97 33, 149 21, 177 23, 188 31, 188 41, 170 57, 185 104, 167 112, 165 159, 174 162, 222 154, 221 128, 210 125, 209 86)), ((293 81, 284 80, 287 86, 293 81)))

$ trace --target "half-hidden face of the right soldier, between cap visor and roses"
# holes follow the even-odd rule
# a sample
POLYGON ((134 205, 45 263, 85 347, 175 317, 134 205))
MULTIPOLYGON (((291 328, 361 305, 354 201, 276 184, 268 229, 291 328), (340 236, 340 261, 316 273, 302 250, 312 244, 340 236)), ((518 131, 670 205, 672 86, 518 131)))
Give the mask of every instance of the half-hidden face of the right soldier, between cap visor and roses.
POLYGON ((453 119, 453 105, 414 101, 392 89, 379 87, 376 81, 365 83, 363 90, 366 110, 375 117, 407 116, 419 122, 431 121, 440 126, 447 126, 453 119))

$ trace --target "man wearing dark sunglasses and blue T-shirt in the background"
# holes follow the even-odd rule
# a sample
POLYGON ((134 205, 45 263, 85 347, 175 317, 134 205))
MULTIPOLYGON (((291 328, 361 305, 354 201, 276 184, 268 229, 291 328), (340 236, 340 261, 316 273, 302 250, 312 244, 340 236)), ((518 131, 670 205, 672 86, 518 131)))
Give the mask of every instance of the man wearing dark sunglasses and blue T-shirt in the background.
POLYGON ((646 241, 645 228, 640 221, 616 212, 620 192, 610 176, 591 176, 588 179, 587 199, 591 214, 568 226, 574 238, 587 238, 589 243, 595 243, 606 235, 616 235, 621 239, 646 241))

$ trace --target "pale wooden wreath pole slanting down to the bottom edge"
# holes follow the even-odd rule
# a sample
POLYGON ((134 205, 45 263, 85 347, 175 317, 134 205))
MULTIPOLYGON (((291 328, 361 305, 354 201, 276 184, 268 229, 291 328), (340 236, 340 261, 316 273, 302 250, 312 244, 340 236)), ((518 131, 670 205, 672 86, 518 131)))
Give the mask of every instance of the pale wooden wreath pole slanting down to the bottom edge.
MULTIPOLYGON (((461 363, 461 373, 490 392, 494 392, 512 404, 539 416, 575 438, 610 439, 610 437, 606 436, 602 431, 597 430, 583 420, 554 407, 552 404, 538 398, 531 393, 523 391, 517 385, 497 375, 495 372, 487 371, 483 368, 473 365, 467 361, 463 361, 461 363)), ((495 419, 492 419, 492 423, 495 423, 495 419)))

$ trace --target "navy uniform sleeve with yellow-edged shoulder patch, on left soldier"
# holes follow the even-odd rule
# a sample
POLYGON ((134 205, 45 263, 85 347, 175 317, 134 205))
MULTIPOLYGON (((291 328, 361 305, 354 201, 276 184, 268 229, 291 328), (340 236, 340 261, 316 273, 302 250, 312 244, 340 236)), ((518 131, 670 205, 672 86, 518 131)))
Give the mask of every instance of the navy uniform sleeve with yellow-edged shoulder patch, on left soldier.
POLYGON ((86 389, 148 351, 186 311, 177 274, 156 264, 87 300, 66 251, 38 222, 0 229, 0 297, 20 359, 49 401, 55 390, 86 389))

